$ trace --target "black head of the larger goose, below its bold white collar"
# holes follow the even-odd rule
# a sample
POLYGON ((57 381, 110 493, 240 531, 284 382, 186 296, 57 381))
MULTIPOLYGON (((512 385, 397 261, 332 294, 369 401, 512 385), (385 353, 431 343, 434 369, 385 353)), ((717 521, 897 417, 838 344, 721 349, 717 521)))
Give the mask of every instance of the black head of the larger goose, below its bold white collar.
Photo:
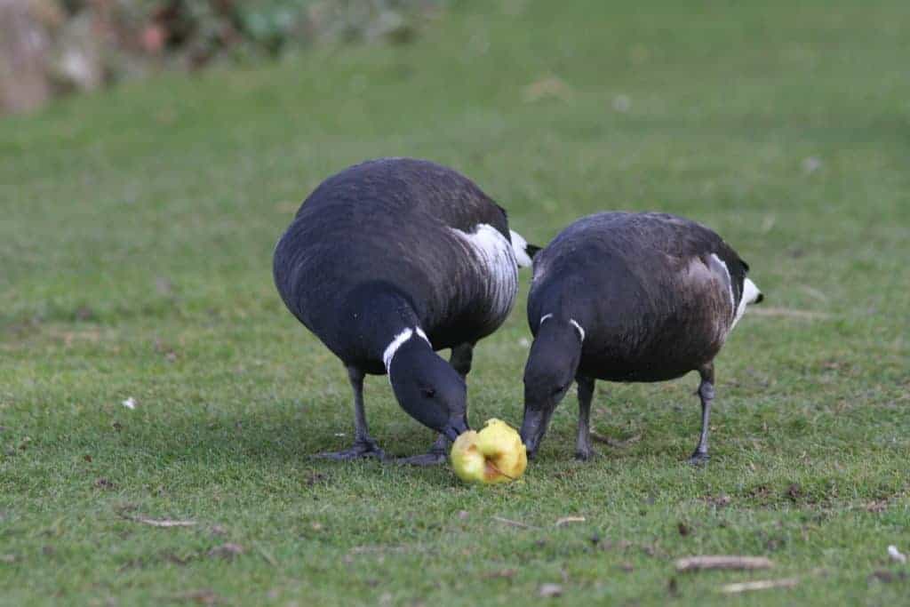
POLYGON ((401 408, 450 440, 470 430, 464 379, 418 334, 402 343, 389 361, 389 381, 401 408))

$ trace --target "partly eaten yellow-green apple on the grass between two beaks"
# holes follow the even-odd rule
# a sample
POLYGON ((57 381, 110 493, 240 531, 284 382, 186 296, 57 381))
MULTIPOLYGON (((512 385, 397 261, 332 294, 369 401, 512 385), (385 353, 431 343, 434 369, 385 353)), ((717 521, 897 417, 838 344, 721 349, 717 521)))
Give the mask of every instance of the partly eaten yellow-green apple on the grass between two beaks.
POLYGON ((495 418, 480 432, 462 432, 452 444, 450 458, 458 478, 485 485, 514 481, 528 467, 528 450, 519 433, 495 418))

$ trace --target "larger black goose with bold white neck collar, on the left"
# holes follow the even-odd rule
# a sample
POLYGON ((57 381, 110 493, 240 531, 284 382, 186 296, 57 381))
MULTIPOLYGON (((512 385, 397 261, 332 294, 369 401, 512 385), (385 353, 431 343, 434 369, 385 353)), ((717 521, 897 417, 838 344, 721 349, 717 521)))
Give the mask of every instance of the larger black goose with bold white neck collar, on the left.
POLYGON ((430 452, 402 460, 444 461, 469 430, 474 345, 508 317, 518 268, 536 250, 480 187, 426 160, 369 160, 322 182, 273 259, 285 305, 344 364, 354 392, 354 444, 321 455, 384 458, 363 382, 388 374, 401 408, 440 433, 430 452), (451 349, 449 362, 440 349, 451 349))

